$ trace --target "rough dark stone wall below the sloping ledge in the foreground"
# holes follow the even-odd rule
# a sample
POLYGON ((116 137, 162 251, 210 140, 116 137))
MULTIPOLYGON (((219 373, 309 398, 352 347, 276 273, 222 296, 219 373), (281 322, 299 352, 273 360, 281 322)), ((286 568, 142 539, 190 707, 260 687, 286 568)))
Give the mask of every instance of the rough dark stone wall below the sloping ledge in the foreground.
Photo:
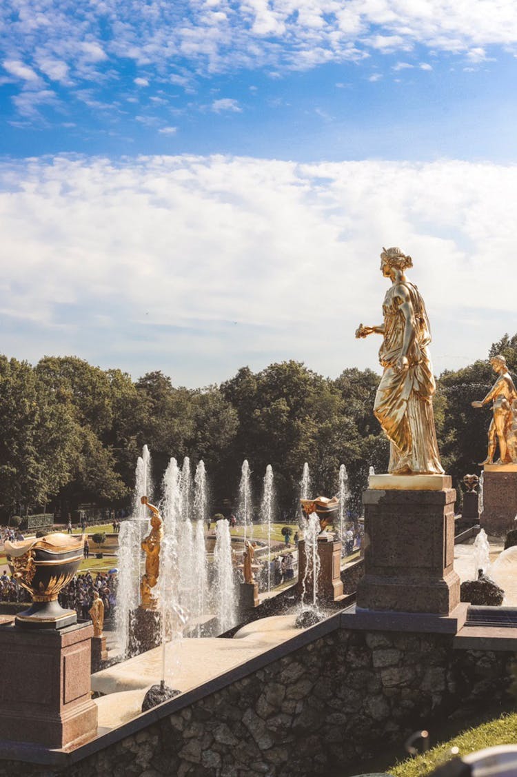
MULTIPOLYGON (((318 775, 376 754, 433 716, 494 700, 510 653, 449 636, 337 630, 62 772, 24 775, 318 775)), ((0 762, 0 777, 19 774, 0 762)))

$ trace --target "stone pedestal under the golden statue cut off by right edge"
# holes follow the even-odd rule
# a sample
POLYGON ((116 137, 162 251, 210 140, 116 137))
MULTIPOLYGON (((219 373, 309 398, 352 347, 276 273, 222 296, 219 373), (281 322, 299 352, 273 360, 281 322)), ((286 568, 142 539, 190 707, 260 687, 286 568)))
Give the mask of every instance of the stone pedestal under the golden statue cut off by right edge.
POLYGON ((515 528, 517 514, 517 465, 485 467, 483 476, 483 512, 480 526, 487 535, 503 537, 515 528), (514 469, 509 469, 513 467, 514 469))

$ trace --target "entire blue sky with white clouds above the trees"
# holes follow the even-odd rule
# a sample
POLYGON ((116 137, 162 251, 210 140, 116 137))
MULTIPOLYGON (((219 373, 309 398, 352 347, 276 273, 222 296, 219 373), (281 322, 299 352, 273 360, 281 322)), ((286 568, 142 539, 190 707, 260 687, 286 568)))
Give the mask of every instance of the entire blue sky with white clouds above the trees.
POLYGON ((6 0, 0 33, 6 353, 375 367, 388 243, 437 369, 515 331, 513 0, 6 0))

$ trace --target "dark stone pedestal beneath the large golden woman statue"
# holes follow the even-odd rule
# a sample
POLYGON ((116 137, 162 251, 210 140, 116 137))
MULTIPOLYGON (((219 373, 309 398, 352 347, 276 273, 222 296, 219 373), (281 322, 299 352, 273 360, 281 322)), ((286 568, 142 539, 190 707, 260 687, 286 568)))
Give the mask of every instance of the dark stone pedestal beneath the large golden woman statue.
POLYGON ((449 615, 459 605, 456 491, 366 490, 365 577, 358 608, 449 615))

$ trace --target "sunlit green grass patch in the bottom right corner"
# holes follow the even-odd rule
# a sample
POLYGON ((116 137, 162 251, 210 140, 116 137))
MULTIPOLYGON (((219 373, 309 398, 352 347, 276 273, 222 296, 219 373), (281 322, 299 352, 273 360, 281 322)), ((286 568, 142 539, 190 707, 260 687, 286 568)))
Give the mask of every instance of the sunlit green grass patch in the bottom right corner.
POLYGON ((407 758, 387 769, 393 777, 424 777, 454 756, 451 748, 457 747, 459 756, 475 753, 484 747, 517 743, 517 713, 505 713, 500 717, 466 729, 456 737, 432 747, 427 753, 407 758))

